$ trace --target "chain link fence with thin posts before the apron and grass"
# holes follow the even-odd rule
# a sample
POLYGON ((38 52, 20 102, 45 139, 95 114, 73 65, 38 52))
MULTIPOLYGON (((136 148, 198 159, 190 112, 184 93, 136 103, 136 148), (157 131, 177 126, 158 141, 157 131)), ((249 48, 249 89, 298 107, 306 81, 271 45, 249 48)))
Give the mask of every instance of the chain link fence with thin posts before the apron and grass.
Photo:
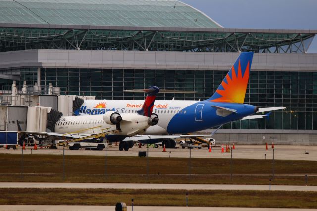
MULTIPOLYGON (((118 145, 118 144, 117 144, 118 145)), ((177 144, 178 145, 178 144, 177 144)), ((317 147, 219 145, 119 151, 0 148, 2 181, 317 185, 317 147)))

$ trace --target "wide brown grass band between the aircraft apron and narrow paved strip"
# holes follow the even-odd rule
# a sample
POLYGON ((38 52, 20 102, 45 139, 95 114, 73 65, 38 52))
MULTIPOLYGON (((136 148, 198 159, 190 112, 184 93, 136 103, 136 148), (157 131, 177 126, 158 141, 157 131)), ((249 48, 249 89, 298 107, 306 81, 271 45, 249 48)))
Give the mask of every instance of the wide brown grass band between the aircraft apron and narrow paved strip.
MULTIPOLYGON (((104 156, 65 156, 63 180, 62 155, 24 155, 21 163, 21 155, 1 154, 1 181, 268 184, 272 174, 271 160, 234 159, 231 180, 230 159, 192 158, 189 178, 189 158, 150 157, 147 176, 147 158, 107 157, 105 169, 104 156)), ((275 160, 275 174, 273 184, 303 185, 305 174, 317 174, 317 162, 275 160)), ((317 185, 317 176, 308 185, 317 185)))

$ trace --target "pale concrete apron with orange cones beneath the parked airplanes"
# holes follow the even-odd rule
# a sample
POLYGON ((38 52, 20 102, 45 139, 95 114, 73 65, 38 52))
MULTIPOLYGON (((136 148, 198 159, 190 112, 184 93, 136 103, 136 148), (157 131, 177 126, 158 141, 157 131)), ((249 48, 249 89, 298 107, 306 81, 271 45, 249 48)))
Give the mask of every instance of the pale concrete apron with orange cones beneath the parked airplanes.
MULTIPOLYGON (((233 150, 233 158, 244 159, 272 159, 273 150, 271 146, 268 146, 268 150, 265 150, 265 145, 236 145, 236 150, 233 150)), ((107 148, 107 156, 138 156, 139 151, 147 151, 146 147, 138 148, 134 146, 129 151, 119 151, 118 146, 109 146, 107 148)), ((171 158, 188 158, 189 149, 166 149, 167 152, 162 152, 162 147, 149 148, 150 157, 171 157, 171 158)), ((5 150, 0 148, 1 153, 21 154, 21 147, 17 150, 5 150)), ((63 148, 58 149, 38 149, 33 150, 32 147, 26 147, 23 154, 51 154, 62 155, 63 148)), ((65 155, 89 155, 89 156, 105 156, 106 150, 69 150, 65 148, 65 155)), ((317 146, 304 146, 304 145, 275 145, 274 148, 275 159, 280 160, 311 160, 317 161, 317 146)), ((221 153, 221 147, 213 147, 212 152, 208 152, 207 147, 201 149, 191 150, 192 158, 231 158, 231 153, 221 153)))

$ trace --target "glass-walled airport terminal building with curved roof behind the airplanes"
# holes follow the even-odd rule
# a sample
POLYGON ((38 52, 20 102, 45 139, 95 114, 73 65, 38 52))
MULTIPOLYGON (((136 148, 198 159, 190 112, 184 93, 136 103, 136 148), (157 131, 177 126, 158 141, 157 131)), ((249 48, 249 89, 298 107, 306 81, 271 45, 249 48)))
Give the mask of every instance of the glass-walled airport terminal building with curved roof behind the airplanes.
POLYGON ((96 99, 143 99, 123 90, 156 85, 197 91, 158 99, 203 100, 253 51, 245 103, 287 109, 223 125, 216 139, 317 144, 316 33, 223 28, 177 0, 0 0, 1 99, 16 81, 96 99))

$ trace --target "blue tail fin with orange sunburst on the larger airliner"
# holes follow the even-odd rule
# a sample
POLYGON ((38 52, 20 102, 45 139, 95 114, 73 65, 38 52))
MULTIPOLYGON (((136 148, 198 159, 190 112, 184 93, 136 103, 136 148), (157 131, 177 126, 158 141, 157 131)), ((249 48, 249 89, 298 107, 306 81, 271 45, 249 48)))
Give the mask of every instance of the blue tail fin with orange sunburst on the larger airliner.
POLYGON ((216 92, 207 101, 243 104, 249 81, 253 52, 243 52, 216 92))

